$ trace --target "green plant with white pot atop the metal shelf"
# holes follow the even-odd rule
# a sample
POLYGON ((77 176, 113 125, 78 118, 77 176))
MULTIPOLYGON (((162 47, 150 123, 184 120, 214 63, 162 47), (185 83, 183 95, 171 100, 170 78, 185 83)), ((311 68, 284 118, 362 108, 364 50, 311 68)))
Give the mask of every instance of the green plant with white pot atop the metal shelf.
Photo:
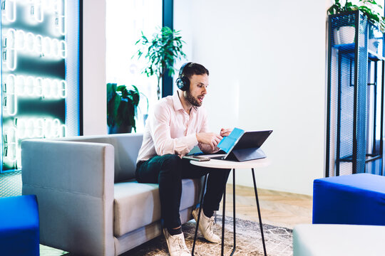
MULTIPOLYGON (((384 33, 385 17, 376 11, 376 9, 382 9, 382 6, 377 4, 374 0, 359 0, 357 5, 352 4, 349 0, 347 0, 344 6, 340 3, 339 0, 335 0, 334 4, 327 10, 327 14, 342 14, 348 11, 359 10, 374 26, 377 26, 381 32, 384 33)), ((334 29, 334 43, 354 43, 354 19, 352 19, 351 16, 342 16, 340 18, 340 23, 344 26, 334 29)), ((373 28, 370 26, 369 29, 373 28)))

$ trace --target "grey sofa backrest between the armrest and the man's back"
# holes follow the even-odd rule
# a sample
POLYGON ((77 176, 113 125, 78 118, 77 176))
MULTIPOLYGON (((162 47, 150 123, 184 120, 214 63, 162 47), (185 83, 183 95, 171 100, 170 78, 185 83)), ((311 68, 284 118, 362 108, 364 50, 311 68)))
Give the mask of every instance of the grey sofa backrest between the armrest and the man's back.
POLYGON ((143 134, 108 134, 68 137, 71 142, 95 142, 113 145, 115 149, 115 183, 135 178, 136 159, 143 142, 143 134))

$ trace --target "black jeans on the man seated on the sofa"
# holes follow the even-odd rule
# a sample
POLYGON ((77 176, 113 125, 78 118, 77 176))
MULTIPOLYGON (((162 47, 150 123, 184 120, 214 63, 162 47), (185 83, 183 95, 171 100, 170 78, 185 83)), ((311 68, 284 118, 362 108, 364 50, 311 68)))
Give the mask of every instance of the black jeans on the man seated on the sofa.
POLYGON ((154 156, 136 166, 136 179, 140 183, 159 183, 161 216, 165 228, 178 228, 179 207, 182 195, 182 178, 200 178, 208 174, 203 208, 219 210, 230 169, 212 169, 190 164, 175 154, 154 156))

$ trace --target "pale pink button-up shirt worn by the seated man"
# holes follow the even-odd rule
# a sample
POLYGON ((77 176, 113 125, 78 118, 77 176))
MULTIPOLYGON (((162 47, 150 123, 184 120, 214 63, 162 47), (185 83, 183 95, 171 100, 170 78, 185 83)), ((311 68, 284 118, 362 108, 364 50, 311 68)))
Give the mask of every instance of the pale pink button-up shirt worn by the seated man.
MULTIPOLYGON (((164 97, 147 119, 137 162, 156 155, 184 156, 198 144, 196 134, 207 130, 207 112, 203 107, 193 106, 189 115, 183 109, 178 93, 164 97)), ((207 153, 212 151, 208 145, 199 146, 207 153)))

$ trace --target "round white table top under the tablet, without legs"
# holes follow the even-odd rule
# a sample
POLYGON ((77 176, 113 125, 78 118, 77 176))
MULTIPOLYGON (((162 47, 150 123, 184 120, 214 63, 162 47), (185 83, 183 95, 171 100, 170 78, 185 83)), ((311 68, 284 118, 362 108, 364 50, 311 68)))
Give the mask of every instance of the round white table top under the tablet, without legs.
POLYGON ((210 167, 210 168, 219 168, 219 169, 239 169, 239 168, 260 168, 263 166, 268 166, 270 160, 265 159, 255 159, 250 161, 227 161, 227 160, 218 160, 210 159, 210 161, 194 161, 191 160, 190 164, 196 166, 210 167))

